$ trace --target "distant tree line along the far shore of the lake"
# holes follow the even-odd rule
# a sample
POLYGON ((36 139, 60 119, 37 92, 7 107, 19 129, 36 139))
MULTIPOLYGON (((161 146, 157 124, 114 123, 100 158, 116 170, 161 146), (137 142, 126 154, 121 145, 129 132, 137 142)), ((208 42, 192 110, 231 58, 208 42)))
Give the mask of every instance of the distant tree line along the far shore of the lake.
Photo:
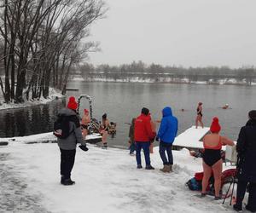
POLYGON ((146 65, 143 61, 133 61, 131 64, 120 66, 109 66, 103 64, 93 66, 84 63, 80 66, 83 77, 86 78, 112 78, 129 79, 129 78, 150 78, 154 82, 165 81, 165 78, 188 78, 190 81, 208 81, 212 79, 217 82, 222 78, 236 78, 236 80, 245 80, 251 84, 256 79, 256 69, 253 66, 242 66, 232 69, 229 66, 206 66, 206 67, 183 67, 183 66, 161 66, 152 63, 146 65))

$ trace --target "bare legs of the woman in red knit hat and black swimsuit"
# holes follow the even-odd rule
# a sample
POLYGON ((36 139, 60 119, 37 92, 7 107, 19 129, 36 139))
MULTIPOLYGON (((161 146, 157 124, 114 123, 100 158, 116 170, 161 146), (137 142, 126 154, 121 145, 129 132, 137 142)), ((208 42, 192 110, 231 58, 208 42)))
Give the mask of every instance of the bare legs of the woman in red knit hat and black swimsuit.
POLYGON ((218 160, 215 164, 208 166, 205 162, 203 162, 203 170, 204 176, 202 180, 202 190, 201 193, 207 192, 207 186, 210 177, 214 176, 214 190, 215 190, 215 197, 219 197, 220 185, 221 185, 221 174, 222 174, 222 159, 218 160))

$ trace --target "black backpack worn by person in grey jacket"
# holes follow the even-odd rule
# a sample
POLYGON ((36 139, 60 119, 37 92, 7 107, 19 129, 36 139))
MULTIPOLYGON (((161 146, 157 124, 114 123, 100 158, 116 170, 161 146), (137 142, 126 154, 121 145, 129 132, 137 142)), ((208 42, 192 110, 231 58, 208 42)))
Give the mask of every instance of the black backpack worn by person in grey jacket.
POLYGON ((69 130, 69 122, 73 121, 74 116, 58 115, 54 124, 53 134, 60 139, 66 139, 74 130, 69 130))

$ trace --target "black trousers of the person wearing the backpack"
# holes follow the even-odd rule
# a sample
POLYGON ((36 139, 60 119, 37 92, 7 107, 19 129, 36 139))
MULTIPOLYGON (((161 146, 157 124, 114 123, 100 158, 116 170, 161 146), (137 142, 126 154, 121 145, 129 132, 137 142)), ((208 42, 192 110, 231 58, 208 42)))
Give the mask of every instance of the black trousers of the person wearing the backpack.
POLYGON ((76 150, 65 150, 61 149, 61 176, 63 178, 69 179, 71 176, 71 171, 73 169, 73 164, 75 160, 76 150))

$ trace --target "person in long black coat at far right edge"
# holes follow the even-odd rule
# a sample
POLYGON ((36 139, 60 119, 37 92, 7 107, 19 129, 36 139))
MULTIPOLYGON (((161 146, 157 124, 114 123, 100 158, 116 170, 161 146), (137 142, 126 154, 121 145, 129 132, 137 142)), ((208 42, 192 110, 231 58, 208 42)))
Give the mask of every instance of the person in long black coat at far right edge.
POLYGON ((256 212, 256 110, 248 113, 249 120, 240 130, 236 151, 240 163, 238 164, 238 184, 236 204, 234 210, 242 209, 242 200, 248 190, 249 197, 246 209, 256 212))

